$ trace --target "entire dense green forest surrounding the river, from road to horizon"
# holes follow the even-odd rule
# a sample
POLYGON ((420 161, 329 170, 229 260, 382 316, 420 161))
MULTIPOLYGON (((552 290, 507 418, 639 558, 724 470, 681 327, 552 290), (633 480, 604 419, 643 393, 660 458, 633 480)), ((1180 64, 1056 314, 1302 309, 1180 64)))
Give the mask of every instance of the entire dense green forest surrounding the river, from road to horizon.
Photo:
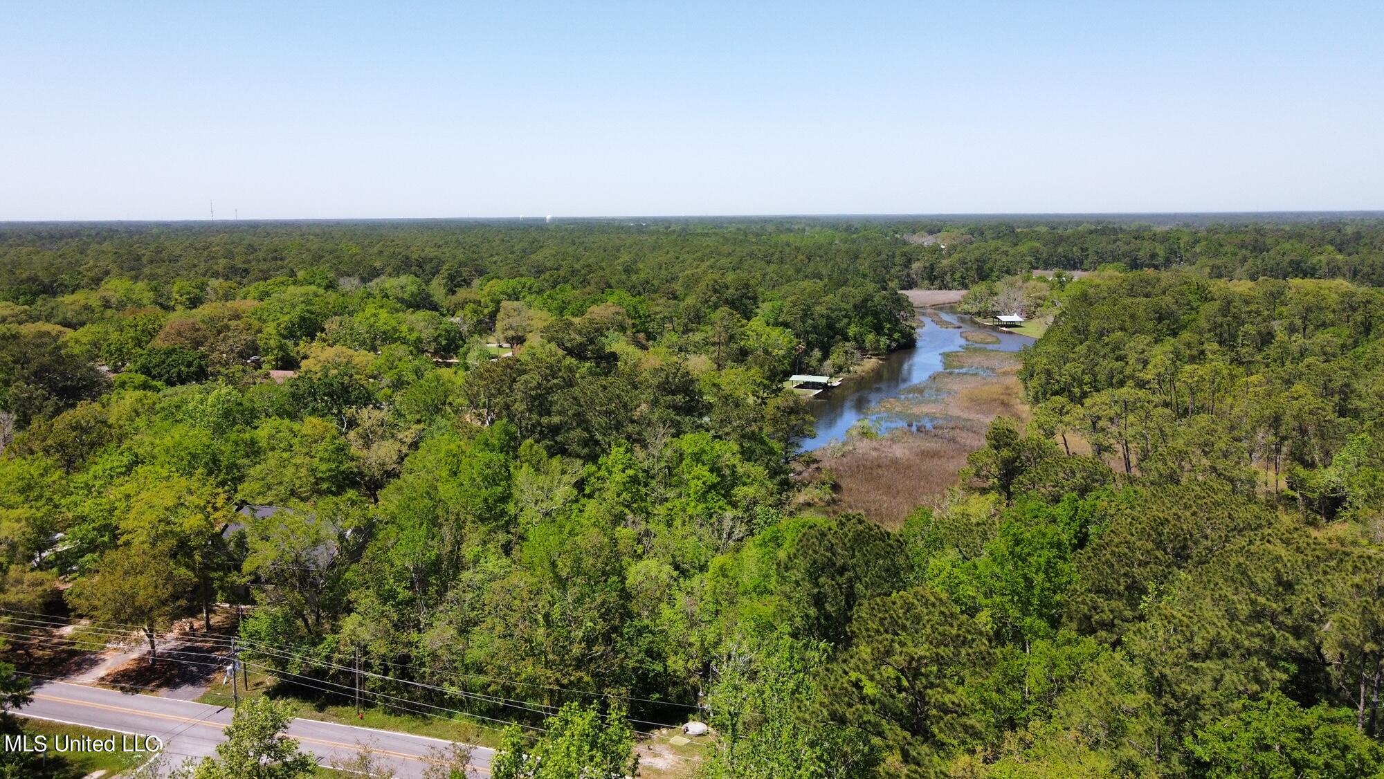
POLYGON ((1362 220, 10 226, 0 609, 244 603, 304 696, 548 728, 495 776, 688 718, 707 778, 1372 776, 1376 285, 1362 220), (782 379, 1034 268, 1099 273, 1032 422, 900 531, 817 511, 782 379))

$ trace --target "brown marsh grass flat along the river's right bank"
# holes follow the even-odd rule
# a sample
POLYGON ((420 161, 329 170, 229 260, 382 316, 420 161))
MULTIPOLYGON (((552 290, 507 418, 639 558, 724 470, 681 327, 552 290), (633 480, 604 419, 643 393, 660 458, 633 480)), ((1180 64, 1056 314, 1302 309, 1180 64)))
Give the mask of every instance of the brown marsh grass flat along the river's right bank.
POLYGON ((967 349, 947 356, 947 371, 882 410, 912 419, 880 439, 853 439, 819 450, 804 476, 829 472, 837 484, 829 513, 858 511, 890 529, 902 526, 920 505, 938 505, 966 466, 966 455, 985 443, 996 416, 1028 421, 1019 382, 1019 356, 967 349))

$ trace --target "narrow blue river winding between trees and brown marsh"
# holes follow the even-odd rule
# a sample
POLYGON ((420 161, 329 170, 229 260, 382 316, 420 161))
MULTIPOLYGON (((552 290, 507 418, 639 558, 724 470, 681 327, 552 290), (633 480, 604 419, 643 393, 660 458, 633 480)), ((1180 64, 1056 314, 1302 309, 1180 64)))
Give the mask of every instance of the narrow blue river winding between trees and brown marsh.
POLYGON ((817 419, 817 436, 803 441, 803 448, 811 451, 843 440, 846 430, 850 430, 861 419, 871 419, 880 432, 904 426, 905 419, 880 412, 876 405, 879 401, 897 397, 904 389, 918 386, 943 371, 943 354, 947 351, 959 351, 966 347, 1019 351, 1034 342, 1026 335, 976 324, 970 317, 945 307, 933 310, 941 318, 960 327, 944 328, 925 317, 923 327, 918 328, 918 345, 913 349, 900 349, 886 357, 884 364, 875 368, 873 372, 851 378, 825 398, 811 400, 808 408, 817 419), (970 343, 960 335, 966 331, 994 333, 999 336, 999 343, 970 343))

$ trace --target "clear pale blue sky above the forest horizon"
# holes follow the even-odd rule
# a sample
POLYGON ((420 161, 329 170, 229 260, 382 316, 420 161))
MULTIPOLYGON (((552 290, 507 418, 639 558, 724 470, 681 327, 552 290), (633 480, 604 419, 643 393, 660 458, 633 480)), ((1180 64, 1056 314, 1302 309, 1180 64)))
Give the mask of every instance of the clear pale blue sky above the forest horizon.
POLYGON ((208 201, 1384 209, 1384 3, 0 0, 0 220, 208 201))

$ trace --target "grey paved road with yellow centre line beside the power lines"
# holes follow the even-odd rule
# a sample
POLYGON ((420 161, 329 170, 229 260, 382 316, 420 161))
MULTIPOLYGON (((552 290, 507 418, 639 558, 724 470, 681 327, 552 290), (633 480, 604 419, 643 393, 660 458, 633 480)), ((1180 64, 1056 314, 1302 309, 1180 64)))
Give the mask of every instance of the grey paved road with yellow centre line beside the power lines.
MULTIPOLYGON (((212 754, 223 739, 223 728, 231 724, 231 710, 227 707, 66 682, 35 686, 33 702, 15 714, 158 736, 163 740, 169 765, 179 765, 188 757, 212 754)), ((375 753, 393 762, 400 776, 421 776, 426 765, 424 755, 429 750, 446 749, 450 743, 317 720, 293 720, 288 735, 298 739, 304 751, 317 755, 322 765, 339 765, 339 761, 356 754, 358 743, 372 743, 375 753)), ((493 754, 494 750, 487 747, 472 750, 471 765, 476 776, 490 775, 493 754)))

